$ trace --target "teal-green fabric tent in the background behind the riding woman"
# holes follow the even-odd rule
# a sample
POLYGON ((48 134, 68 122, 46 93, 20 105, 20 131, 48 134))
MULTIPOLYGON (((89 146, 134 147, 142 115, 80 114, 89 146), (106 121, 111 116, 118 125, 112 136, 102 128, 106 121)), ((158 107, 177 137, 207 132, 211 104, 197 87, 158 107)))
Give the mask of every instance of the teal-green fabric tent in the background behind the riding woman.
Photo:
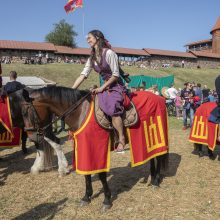
MULTIPOLYGON (((152 76, 144 76, 144 75, 135 75, 129 76, 131 82, 128 84, 129 88, 138 88, 145 87, 148 89, 152 87, 152 85, 157 85, 158 91, 161 93, 161 89, 163 87, 170 87, 174 83, 174 75, 165 76, 165 77, 152 77, 152 76)), ((103 81, 100 78, 100 85, 103 84, 103 81)))

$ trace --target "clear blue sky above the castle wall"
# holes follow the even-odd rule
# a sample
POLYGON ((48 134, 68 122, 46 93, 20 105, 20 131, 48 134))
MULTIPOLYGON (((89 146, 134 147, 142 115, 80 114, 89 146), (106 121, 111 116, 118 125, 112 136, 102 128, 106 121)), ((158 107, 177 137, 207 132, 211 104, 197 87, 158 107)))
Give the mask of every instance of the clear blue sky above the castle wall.
POLYGON ((220 16, 219 0, 84 0, 71 14, 63 9, 66 2, 1 0, 0 40, 43 42, 65 19, 78 33, 79 47, 88 47, 86 33, 99 29, 112 46, 185 51, 186 43, 211 38, 220 16))

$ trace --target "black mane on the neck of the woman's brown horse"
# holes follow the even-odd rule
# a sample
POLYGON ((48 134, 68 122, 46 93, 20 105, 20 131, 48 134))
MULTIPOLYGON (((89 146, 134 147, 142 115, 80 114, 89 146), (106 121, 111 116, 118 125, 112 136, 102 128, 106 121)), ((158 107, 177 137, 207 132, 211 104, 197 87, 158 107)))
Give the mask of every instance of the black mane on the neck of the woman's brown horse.
POLYGON ((50 98, 51 100, 56 100, 60 103, 68 102, 70 104, 74 104, 88 93, 89 90, 71 89, 63 86, 49 86, 40 89, 34 89, 31 92, 30 97, 35 98, 36 95, 40 95, 50 98))

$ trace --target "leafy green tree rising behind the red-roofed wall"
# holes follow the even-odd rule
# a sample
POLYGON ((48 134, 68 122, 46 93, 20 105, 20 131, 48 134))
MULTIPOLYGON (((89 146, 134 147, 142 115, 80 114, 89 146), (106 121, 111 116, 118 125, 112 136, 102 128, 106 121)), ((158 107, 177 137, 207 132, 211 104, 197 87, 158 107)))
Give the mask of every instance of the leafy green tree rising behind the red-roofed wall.
POLYGON ((46 35, 45 40, 59 46, 76 47, 75 37, 77 35, 74 26, 62 19, 54 24, 54 30, 46 35))

